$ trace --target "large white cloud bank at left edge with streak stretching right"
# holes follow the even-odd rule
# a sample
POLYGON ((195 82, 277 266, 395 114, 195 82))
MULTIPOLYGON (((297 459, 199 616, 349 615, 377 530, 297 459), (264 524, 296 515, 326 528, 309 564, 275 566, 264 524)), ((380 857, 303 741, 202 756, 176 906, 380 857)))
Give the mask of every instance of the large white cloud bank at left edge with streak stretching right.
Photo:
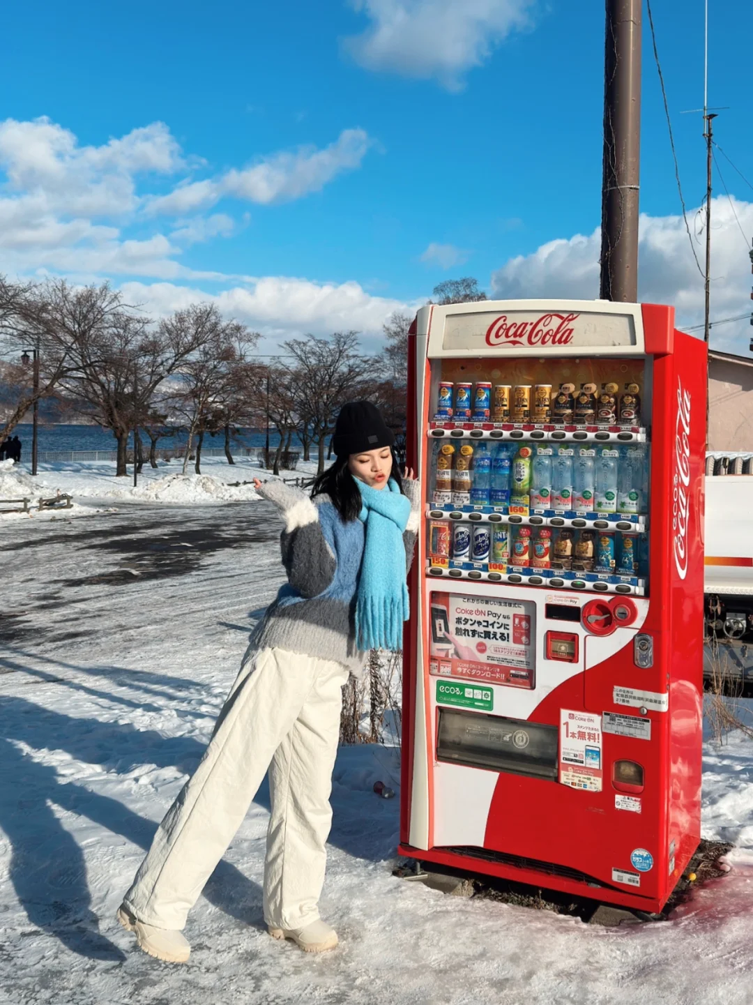
MULTIPOLYGON (((318 191, 339 172, 358 167, 370 142, 362 130, 345 130, 324 149, 272 154, 217 179, 186 179, 158 197, 140 187, 155 175, 189 170, 164 123, 96 147, 79 145, 70 130, 47 118, 7 119, 0 122, 0 271, 56 272, 86 281, 237 278, 181 264, 187 246, 236 228, 226 213, 204 217, 196 211, 223 195, 267 203, 318 191), (177 220, 163 227, 158 214, 177 220)), ((244 214, 238 222, 247 220, 244 214)))

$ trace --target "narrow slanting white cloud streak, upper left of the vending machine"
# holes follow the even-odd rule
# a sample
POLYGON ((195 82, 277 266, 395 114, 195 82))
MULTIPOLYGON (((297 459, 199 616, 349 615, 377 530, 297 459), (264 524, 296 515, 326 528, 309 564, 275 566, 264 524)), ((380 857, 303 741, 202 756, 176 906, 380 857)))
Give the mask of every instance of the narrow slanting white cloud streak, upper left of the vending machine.
POLYGON ((363 130, 343 130, 335 143, 323 150, 301 147, 280 151, 218 178, 179 185, 168 195, 151 199, 148 210, 180 215, 214 205, 223 196, 261 204, 290 202, 319 192, 336 175, 360 167, 370 146, 363 130))

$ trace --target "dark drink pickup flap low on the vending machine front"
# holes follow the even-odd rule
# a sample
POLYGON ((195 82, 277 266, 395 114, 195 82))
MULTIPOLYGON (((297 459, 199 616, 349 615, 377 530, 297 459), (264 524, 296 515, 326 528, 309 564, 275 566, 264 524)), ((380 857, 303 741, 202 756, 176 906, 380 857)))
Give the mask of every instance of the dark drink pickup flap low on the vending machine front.
POLYGON ((439 709, 436 757, 450 764, 557 780, 556 726, 439 709))

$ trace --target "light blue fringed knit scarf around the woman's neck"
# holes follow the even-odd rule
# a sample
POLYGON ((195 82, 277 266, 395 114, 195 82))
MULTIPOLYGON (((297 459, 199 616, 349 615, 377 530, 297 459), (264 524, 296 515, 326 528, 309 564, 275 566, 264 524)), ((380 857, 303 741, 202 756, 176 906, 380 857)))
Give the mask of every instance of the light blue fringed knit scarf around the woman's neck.
POLYGON ((390 478, 384 488, 358 481, 366 543, 356 601, 358 648, 401 649, 403 621, 408 618, 405 548, 402 534, 410 516, 410 499, 390 478))

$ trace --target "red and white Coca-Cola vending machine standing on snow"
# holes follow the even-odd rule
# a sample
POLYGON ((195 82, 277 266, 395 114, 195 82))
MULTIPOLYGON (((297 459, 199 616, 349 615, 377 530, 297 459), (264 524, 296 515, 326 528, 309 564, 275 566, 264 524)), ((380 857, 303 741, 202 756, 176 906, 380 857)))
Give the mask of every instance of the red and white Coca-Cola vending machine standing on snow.
POLYGON ((418 312, 401 854, 658 912, 695 852, 707 358, 674 321, 418 312))

